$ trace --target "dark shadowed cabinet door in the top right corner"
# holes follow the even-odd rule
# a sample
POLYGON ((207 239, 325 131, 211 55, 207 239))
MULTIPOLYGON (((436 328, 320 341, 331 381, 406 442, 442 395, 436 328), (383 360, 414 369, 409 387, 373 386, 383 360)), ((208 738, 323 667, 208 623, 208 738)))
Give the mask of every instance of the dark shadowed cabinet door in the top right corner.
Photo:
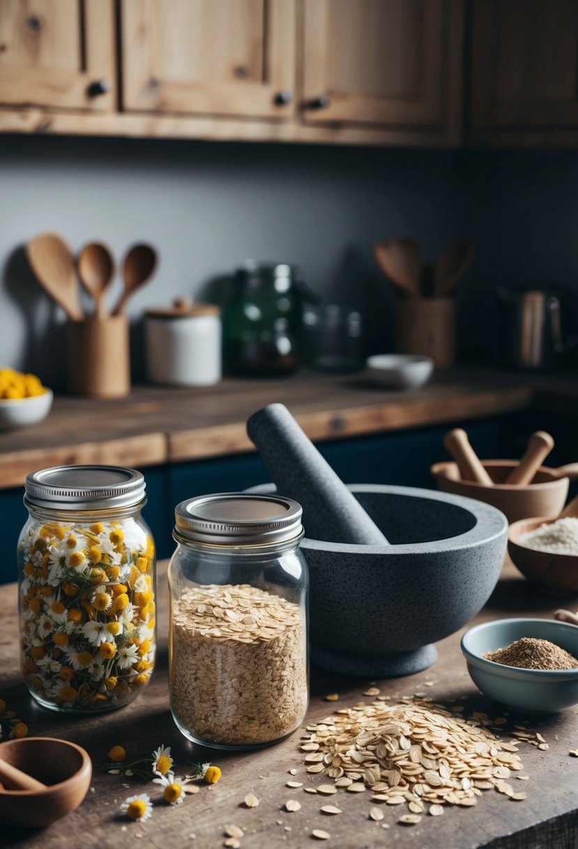
POLYGON ((575 0, 475 0, 472 127, 576 127, 577 78, 575 0))

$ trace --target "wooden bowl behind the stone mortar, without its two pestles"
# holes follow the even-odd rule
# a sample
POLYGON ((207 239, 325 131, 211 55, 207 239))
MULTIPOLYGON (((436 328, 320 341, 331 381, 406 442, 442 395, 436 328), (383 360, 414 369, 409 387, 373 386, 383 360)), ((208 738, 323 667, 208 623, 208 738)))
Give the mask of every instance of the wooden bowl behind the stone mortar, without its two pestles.
POLYGON ((482 465, 494 486, 462 481, 457 463, 436 463, 430 470, 442 492, 453 492, 454 495, 465 495, 492 504, 506 514, 509 522, 533 516, 546 516, 547 519, 558 516, 568 495, 570 479, 573 480, 578 473, 578 464, 560 469, 540 466, 531 484, 513 486, 503 481, 518 465, 518 460, 484 460, 482 465))

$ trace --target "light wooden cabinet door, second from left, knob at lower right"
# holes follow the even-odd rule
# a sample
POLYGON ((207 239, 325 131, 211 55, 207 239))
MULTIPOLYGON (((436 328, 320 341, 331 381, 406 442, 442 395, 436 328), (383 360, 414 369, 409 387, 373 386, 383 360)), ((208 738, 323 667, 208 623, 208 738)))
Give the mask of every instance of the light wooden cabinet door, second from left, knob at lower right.
POLYGON ((292 115, 294 0, 122 0, 123 108, 292 115))

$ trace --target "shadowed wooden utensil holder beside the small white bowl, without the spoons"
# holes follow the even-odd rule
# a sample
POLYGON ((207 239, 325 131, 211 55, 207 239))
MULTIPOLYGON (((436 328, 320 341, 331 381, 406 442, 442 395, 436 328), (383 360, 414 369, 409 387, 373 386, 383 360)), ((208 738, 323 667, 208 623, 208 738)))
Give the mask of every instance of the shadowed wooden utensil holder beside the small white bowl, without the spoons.
POLYGON ((455 298, 403 298, 397 301, 396 351, 431 357, 438 368, 455 360, 455 298))

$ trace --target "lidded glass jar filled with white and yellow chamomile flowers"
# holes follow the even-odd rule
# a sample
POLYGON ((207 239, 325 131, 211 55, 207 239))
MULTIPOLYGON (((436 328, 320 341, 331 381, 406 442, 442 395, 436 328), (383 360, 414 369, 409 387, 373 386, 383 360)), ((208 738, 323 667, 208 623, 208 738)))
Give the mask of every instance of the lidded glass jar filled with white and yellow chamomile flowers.
POLYGON ((154 542, 141 472, 57 466, 28 475, 18 543, 22 673, 54 711, 125 705, 151 677, 154 542))

